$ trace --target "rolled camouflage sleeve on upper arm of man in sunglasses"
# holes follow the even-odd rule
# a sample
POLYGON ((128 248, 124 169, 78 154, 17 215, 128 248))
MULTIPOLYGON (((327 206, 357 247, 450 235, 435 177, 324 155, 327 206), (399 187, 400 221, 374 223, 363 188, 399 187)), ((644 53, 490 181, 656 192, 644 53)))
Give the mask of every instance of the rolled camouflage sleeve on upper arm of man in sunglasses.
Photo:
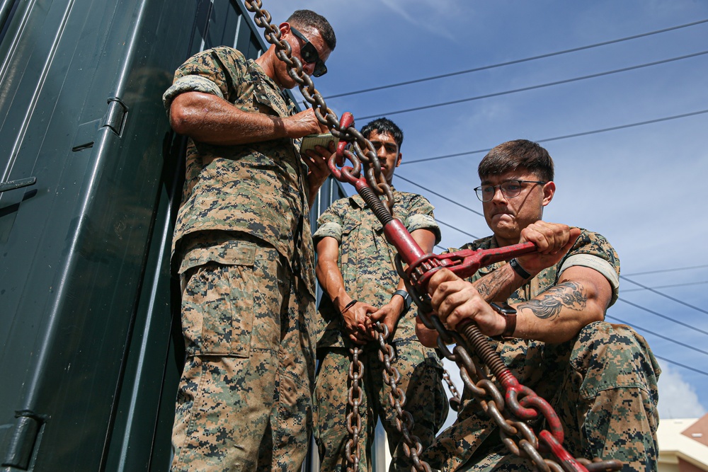
POLYGON ((229 84, 237 84, 237 75, 245 69, 244 54, 232 47, 199 52, 177 69, 172 86, 162 96, 162 103, 169 114, 172 100, 180 93, 210 93, 229 100, 229 84))

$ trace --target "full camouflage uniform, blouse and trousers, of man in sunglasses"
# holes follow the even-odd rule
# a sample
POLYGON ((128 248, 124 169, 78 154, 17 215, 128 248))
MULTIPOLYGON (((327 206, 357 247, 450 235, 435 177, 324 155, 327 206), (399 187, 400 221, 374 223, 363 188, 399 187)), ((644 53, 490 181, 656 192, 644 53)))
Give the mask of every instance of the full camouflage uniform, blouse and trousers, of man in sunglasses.
MULTIPOLYGON (((241 52, 187 60, 164 94, 224 98, 285 117, 295 106, 241 52)), ((299 470, 314 384, 314 250, 307 168, 292 139, 236 146, 189 140, 173 236, 187 359, 173 471, 299 470)))

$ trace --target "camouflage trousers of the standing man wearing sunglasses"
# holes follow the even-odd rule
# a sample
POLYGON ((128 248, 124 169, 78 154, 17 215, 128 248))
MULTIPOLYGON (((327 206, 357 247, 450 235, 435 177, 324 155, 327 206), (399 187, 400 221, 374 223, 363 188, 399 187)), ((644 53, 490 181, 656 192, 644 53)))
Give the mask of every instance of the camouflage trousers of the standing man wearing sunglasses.
POLYGON ((196 267, 183 292, 171 471, 299 471, 307 454, 314 299, 274 248, 243 246, 234 265, 196 267))

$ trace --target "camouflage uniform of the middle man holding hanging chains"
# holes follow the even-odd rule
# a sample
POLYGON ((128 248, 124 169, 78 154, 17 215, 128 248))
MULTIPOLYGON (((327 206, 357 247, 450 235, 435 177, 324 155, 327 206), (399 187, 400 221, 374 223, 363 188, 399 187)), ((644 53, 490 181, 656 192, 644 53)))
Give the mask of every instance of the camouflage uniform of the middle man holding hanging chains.
MULTIPOLYGON (((428 229, 440 240, 440 229, 433 218, 433 206, 421 195, 394 190, 394 216, 406 228, 428 229)), ((346 292, 359 301, 377 308, 387 304, 399 284, 400 277, 394 263, 396 248, 387 243, 382 224, 365 206, 359 195, 334 202, 318 220, 319 229, 314 239, 326 236, 339 243, 338 265, 346 292)), ((317 343, 320 361, 314 393, 314 434, 319 447, 321 471, 339 471, 345 461, 344 452, 350 438, 346 429, 348 369, 351 363, 347 335, 341 314, 326 294, 319 309, 326 329, 317 343)), ((324 326, 324 325, 323 325, 324 326)), ((406 393, 406 410, 411 412, 416 427, 412 433, 423 447, 433 442, 447 418, 447 396, 442 387, 442 364, 435 350, 423 347, 416 338, 415 314, 404 313, 396 330, 389 337, 396 354, 392 365, 399 370, 398 386, 406 393)), ((384 365, 378 357, 379 345, 370 342, 363 347, 361 359, 364 376, 360 385, 363 399, 360 435, 360 470, 371 470, 371 444, 377 418, 382 419, 389 449, 392 453, 391 471, 410 471, 403 440, 395 425, 395 410, 389 403, 390 387, 384 384, 384 365)))

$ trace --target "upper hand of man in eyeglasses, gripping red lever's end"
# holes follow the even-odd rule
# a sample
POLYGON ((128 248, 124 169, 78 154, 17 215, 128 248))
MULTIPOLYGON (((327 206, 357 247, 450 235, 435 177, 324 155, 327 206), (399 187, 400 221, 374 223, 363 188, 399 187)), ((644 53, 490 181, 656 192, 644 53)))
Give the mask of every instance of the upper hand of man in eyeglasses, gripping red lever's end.
POLYGON ((571 228, 567 224, 536 221, 521 230, 519 242, 535 243, 537 252, 519 256, 516 260, 526 272, 534 276, 546 267, 559 263, 573 247, 580 233, 579 228, 571 228))

